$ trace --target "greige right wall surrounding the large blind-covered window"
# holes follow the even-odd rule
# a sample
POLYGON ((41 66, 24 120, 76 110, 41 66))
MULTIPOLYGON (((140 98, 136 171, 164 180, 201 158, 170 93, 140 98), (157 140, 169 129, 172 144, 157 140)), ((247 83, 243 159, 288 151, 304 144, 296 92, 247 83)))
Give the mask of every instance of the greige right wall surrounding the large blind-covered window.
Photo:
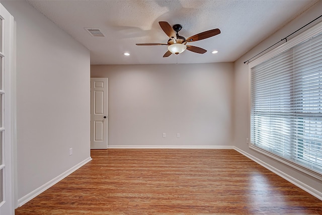
MULTIPOLYGON (((281 175, 289 177, 297 185, 309 190, 311 193, 315 193, 315 196, 319 195, 322 197, 322 186, 321 181, 308 176, 302 172, 299 172, 293 168, 290 168, 280 162, 277 162, 269 157, 266 157, 254 150, 248 148, 246 144, 246 138, 249 136, 249 70, 248 65, 244 64, 243 61, 248 60, 259 52, 263 51, 272 44, 280 41, 282 38, 291 34, 295 30, 309 23, 313 19, 321 15, 322 1, 319 1, 309 11, 303 13, 297 17, 294 21, 286 25, 283 29, 276 32, 268 39, 263 41, 261 44, 256 46, 253 50, 240 57, 234 63, 235 71, 235 82, 234 82, 234 141, 233 145, 240 150, 248 153, 256 159, 261 160, 267 165, 270 165, 273 169, 281 171, 281 175)), ((321 19, 319 20, 321 21, 321 19)), ((306 28, 307 29, 307 28, 306 28)), ((251 39, 251 38, 250 38, 251 39)))

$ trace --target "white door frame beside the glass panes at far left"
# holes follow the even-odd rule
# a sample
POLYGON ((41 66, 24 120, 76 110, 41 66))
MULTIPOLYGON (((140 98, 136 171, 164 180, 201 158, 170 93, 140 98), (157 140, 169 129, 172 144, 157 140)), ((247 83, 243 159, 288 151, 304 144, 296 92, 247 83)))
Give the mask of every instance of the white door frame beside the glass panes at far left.
MULTIPOLYGON (((5 17, 3 26, 3 50, 5 60, 3 61, 4 71, 4 108, 5 113, 5 138, 4 138, 4 156, 5 156, 5 202, 2 204, 1 212, 14 214, 17 206, 17 174, 16 174, 16 31, 14 17, 0 4, 1 15, 5 17), (3 211, 4 210, 4 211, 3 211)), ((2 50, 1 50, 2 51, 2 50)))

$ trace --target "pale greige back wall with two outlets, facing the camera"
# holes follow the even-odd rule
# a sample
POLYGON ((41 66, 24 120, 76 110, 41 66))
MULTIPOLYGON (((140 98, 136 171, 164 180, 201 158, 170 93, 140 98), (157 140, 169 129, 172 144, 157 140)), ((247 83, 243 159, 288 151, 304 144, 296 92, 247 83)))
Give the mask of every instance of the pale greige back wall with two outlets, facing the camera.
POLYGON ((91 77, 109 79, 109 148, 231 146, 233 63, 91 65, 91 77))

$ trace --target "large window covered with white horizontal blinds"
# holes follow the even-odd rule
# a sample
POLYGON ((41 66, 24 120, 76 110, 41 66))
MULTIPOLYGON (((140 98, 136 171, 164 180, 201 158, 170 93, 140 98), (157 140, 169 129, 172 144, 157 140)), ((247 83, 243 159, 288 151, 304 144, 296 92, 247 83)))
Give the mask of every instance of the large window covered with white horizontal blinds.
POLYGON ((292 41, 250 63, 250 147, 321 178, 322 23, 292 41))

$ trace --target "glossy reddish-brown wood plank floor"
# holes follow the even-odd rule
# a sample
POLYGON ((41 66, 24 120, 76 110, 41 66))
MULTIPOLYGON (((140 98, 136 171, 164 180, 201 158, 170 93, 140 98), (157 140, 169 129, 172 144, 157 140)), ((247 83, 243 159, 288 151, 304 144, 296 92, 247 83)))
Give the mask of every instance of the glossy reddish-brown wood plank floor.
POLYGON ((322 214, 322 201, 234 150, 93 150, 16 214, 322 214))

